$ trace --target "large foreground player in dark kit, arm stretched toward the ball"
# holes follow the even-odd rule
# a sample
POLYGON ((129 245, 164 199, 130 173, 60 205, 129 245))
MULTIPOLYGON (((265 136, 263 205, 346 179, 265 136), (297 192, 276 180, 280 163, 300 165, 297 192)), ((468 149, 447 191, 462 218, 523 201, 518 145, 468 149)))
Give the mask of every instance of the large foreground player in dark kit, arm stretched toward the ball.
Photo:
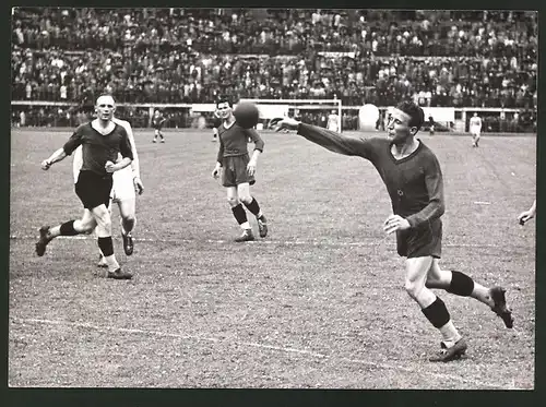
POLYGON ((446 362, 459 359, 467 345, 453 325, 446 304, 431 288, 477 299, 489 306, 507 327, 512 327, 513 320, 503 288, 486 288, 461 272, 441 270, 438 265, 444 212, 443 180, 435 154, 415 139, 423 122, 423 109, 404 101, 392 111, 388 125, 390 140, 344 136, 289 118, 283 119, 278 128, 297 129, 298 134, 313 143, 335 153, 360 156, 376 167, 387 185, 393 211, 384 222, 384 231, 396 232, 397 253, 406 258, 406 291, 442 335, 441 351, 430 360, 446 362))

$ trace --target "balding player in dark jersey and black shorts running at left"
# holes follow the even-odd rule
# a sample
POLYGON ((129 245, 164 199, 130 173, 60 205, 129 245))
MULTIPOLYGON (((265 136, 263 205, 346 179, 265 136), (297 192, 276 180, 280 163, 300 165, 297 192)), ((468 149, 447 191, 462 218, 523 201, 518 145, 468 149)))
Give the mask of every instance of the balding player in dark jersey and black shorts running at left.
POLYGON ((126 129, 112 121, 116 105, 111 96, 99 96, 95 110, 95 120, 80 125, 62 148, 41 163, 41 168, 48 170, 52 164, 64 159, 82 145, 83 163, 75 183, 75 193, 83 203, 84 213, 79 220, 69 220, 55 227, 43 226, 39 229, 36 254, 44 255, 47 244, 58 236, 75 236, 95 230, 98 247, 108 265, 108 278, 130 279, 132 275, 121 270, 114 254, 108 204, 112 172, 131 164, 131 144, 126 129), (122 158, 115 163, 118 160, 118 154, 121 154, 122 158))

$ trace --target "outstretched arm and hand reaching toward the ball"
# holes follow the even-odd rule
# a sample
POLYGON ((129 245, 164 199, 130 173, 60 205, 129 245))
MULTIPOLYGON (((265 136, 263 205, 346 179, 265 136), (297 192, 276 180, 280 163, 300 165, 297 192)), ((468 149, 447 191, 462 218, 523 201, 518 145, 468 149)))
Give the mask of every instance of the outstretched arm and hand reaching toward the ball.
POLYGON ((334 153, 360 156, 368 159, 372 155, 371 144, 364 139, 348 137, 335 131, 301 123, 290 118, 284 118, 277 122, 275 131, 280 131, 281 129, 297 130, 299 135, 334 153))

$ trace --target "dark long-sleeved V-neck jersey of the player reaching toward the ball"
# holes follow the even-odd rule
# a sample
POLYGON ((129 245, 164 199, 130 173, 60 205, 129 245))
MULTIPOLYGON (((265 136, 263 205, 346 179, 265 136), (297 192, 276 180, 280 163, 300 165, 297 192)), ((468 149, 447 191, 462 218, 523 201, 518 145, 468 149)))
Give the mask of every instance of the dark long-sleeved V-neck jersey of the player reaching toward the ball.
POLYGON ((332 152, 371 161, 387 185, 393 213, 406 218, 412 227, 443 215, 440 164, 422 141, 411 155, 396 159, 387 139, 353 139, 304 123, 299 124, 298 134, 332 152))

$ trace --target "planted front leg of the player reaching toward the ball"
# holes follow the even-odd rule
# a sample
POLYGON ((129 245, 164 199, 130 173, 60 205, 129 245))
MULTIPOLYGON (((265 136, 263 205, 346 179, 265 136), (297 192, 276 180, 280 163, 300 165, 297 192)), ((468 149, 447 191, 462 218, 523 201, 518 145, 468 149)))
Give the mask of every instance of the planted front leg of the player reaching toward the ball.
POLYGON ((431 361, 450 361, 466 351, 466 344, 456 331, 446 303, 426 287, 427 274, 432 265, 432 256, 408 258, 406 260, 405 289, 420 307, 428 321, 442 335, 442 352, 431 361))

